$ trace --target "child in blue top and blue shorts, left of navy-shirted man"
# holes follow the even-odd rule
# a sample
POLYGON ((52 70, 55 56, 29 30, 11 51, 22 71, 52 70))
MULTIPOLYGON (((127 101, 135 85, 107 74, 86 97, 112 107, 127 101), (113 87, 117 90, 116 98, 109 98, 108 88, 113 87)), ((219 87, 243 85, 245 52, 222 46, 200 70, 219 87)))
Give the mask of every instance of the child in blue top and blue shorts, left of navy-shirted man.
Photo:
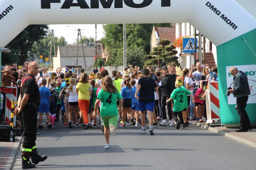
MULTIPOLYGON (((139 110, 140 110, 140 107, 139 107, 139 100, 137 100, 135 98, 135 92, 136 92, 136 81, 135 80, 131 80, 130 81, 130 84, 132 86, 132 115, 134 115, 134 119, 136 119, 136 123, 135 123, 135 126, 138 126, 139 125, 139 110)), ((132 121, 134 122, 134 121, 132 121)))

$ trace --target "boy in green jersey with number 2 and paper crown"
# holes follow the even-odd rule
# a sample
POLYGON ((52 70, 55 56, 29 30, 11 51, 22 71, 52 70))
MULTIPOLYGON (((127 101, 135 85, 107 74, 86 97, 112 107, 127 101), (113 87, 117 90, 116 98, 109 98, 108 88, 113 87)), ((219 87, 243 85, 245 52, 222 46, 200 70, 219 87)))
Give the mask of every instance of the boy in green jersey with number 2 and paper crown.
POLYGON ((176 89, 173 90, 171 94, 171 98, 169 98, 166 101, 167 103, 173 100, 173 118, 176 121, 176 129, 179 129, 180 123, 184 122, 183 116, 182 116, 182 110, 184 109, 186 95, 190 95, 192 98, 192 102, 195 103, 193 94, 187 89, 181 88, 182 85, 183 85, 183 81, 181 79, 177 79, 175 82, 176 89), (178 120, 177 116, 179 116, 180 121, 178 120))

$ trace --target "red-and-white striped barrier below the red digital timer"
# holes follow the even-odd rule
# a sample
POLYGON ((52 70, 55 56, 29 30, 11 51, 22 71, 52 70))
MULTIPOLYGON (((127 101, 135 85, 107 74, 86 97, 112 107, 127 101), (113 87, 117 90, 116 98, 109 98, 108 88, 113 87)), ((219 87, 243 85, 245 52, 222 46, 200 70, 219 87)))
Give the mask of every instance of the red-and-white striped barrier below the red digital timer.
MULTIPOLYGON (((12 113, 12 100, 17 101, 17 90, 18 87, 9 87, 14 88, 14 94, 6 94, 6 102, 5 102, 5 120, 6 124, 11 124, 11 119, 13 118, 13 126, 16 125, 16 114, 12 113), (12 117, 12 114, 13 117, 12 117)), ((15 108, 15 107, 14 107, 15 108)))

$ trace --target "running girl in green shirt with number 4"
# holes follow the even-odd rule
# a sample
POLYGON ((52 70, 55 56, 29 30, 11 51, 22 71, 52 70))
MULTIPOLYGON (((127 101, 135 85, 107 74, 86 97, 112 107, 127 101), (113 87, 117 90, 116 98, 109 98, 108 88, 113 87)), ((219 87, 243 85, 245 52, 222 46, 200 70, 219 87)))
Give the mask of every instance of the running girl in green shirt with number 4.
POLYGON ((100 115, 104 124, 104 134, 106 138, 105 149, 109 148, 109 129, 112 136, 116 135, 118 109, 117 100, 119 100, 119 110, 123 105, 123 97, 113 85, 112 78, 105 76, 102 80, 101 89, 98 92, 92 117, 96 116, 97 108, 100 104, 100 115))

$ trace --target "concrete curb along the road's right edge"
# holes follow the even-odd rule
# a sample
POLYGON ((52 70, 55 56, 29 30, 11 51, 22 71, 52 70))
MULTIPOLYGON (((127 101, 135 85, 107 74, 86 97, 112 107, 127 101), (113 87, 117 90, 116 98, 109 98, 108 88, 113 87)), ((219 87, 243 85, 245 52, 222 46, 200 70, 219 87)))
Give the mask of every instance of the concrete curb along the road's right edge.
POLYGON ((199 126, 201 128, 204 128, 204 129, 207 129, 207 130, 210 130, 211 132, 214 132, 214 133, 217 133, 217 134, 220 134, 222 136, 226 136, 228 138, 231 138, 235 141, 239 141, 241 143, 245 143, 247 145, 250 145, 252 147, 255 147, 256 148, 256 142, 253 142, 249 139, 245 139, 243 137, 240 137, 240 136, 237 136, 237 135, 234 135, 234 134, 231 134, 230 132, 227 132, 225 130, 220 130, 220 129, 217 129, 217 128, 213 128, 213 127, 210 127, 204 123, 196 123, 196 122, 189 122, 190 124, 193 124, 193 125, 196 125, 196 126, 199 126))

